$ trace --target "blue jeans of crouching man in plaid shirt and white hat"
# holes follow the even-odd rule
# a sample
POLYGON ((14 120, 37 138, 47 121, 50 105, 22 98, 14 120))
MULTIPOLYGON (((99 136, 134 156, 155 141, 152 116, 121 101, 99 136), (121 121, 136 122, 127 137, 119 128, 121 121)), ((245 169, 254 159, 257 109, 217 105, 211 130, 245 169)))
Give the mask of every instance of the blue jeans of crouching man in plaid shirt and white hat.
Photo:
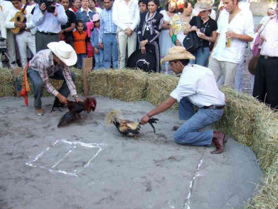
MULTIPOLYGON (((40 110, 41 109, 41 96, 42 96, 42 90, 43 90, 43 86, 44 83, 40 77, 40 74, 38 71, 36 70, 32 70, 31 68, 28 68, 27 70, 27 76, 30 78, 32 84, 33 84, 33 90, 34 90, 34 106, 35 109, 40 110)), ((71 76, 72 76, 72 80, 74 82, 75 80, 75 74, 73 72, 71 72, 71 76)), ((58 90, 58 92, 62 95, 64 95, 65 97, 67 97, 70 93, 69 88, 67 86, 67 83, 65 81, 65 78, 63 76, 63 72, 62 70, 58 70, 54 73, 54 76, 49 76, 49 78, 53 78, 56 80, 63 80, 63 84, 61 86, 61 88, 58 90)))

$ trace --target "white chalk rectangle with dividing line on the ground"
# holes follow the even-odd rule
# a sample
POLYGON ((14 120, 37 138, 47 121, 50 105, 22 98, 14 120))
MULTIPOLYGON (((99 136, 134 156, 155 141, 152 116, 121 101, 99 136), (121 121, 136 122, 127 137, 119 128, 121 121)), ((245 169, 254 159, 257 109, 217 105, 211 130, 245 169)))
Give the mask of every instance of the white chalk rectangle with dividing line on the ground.
POLYGON ((42 151, 39 155, 36 156, 36 158, 33 161, 29 161, 27 163, 25 163, 26 165, 29 165, 31 167, 40 167, 40 168, 44 168, 47 169, 48 171, 52 172, 52 173, 62 173, 65 175, 70 175, 70 176, 78 176, 77 174, 83 170, 85 167, 87 167, 88 165, 90 165, 90 163, 94 160, 94 158, 96 158, 99 155, 99 152, 102 150, 102 147, 107 146, 106 144, 100 144, 100 143, 84 143, 81 141, 67 141, 66 139, 60 139, 60 140, 56 140, 54 143, 52 143, 49 147, 47 147, 44 151, 42 151), (70 144, 73 145, 72 148, 59 160, 57 161, 54 165, 51 166, 51 168, 47 168, 44 165, 35 165, 34 163, 39 160, 46 152, 48 152, 50 150, 50 148, 54 147, 57 143, 62 142, 62 143, 66 143, 66 144, 70 144), (66 172, 64 170, 60 170, 60 169, 52 169, 54 167, 56 167, 60 162, 62 162, 70 153, 72 153, 78 146, 83 146, 83 147, 88 147, 88 148, 98 148, 97 153, 90 158, 90 160, 82 166, 82 168, 80 169, 75 169, 73 172, 66 172))

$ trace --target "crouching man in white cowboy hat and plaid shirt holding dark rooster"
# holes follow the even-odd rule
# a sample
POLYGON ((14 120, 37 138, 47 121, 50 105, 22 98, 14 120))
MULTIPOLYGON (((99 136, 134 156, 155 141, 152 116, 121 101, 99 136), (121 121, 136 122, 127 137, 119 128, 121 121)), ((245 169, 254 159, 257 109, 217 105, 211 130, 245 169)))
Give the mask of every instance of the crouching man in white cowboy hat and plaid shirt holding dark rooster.
POLYGON ((49 49, 43 49, 36 53, 30 61, 27 69, 27 76, 31 79, 34 87, 35 113, 43 115, 41 108, 41 95, 43 87, 49 93, 57 96, 61 103, 66 104, 66 97, 69 93, 79 101, 74 85, 75 74, 70 71, 69 66, 77 62, 77 54, 72 46, 64 41, 50 42, 49 49), (57 91, 50 83, 49 78, 63 80, 63 84, 57 91))

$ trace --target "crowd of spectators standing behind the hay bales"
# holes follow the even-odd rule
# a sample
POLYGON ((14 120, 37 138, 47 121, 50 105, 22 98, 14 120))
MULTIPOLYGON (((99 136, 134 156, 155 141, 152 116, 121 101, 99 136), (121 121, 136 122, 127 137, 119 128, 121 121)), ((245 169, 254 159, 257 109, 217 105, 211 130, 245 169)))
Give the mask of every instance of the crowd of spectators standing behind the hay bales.
MULTIPOLYGON (((196 60, 190 63, 208 66, 219 85, 222 82, 241 91, 245 48, 254 39, 253 15, 238 0, 221 0, 217 13, 210 0, 198 0, 194 9, 189 1, 169 0, 164 10, 159 0, 104 0, 102 9, 96 0, 0 0, 0 12, 1 40, 6 40, 11 68, 18 67, 17 57, 25 67, 48 43, 62 40, 76 50, 76 67, 80 69, 86 57, 94 57, 94 70, 125 68, 126 59, 139 49, 142 54, 153 52, 153 71, 173 74, 168 62, 160 66, 160 60, 170 47, 183 46, 187 34, 196 31, 200 47, 193 52, 196 60), (24 10, 25 20, 12 21, 20 10, 24 10), (17 28, 20 32, 14 34, 12 30, 17 28)), ((265 83, 275 77, 271 85, 277 87, 278 46, 277 36, 268 39, 274 30, 268 24, 277 29, 277 8, 269 8, 256 29, 261 32, 265 28, 258 68, 262 70, 263 59, 274 60, 268 68, 276 68, 276 77, 275 70, 256 75, 254 96, 275 108, 277 88, 274 95, 265 83), (274 18, 269 21, 271 16, 274 18), (275 99, 267 99, 269 96, 275 99)))

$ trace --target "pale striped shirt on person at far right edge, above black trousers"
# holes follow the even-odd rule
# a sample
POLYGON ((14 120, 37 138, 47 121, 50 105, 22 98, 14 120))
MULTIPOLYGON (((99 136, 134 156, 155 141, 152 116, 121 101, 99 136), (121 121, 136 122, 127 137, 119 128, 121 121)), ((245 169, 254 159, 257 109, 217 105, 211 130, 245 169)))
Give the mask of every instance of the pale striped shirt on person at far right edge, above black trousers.
POLYGON ((261 35, 266 39, 261 45, 260 54, 278 57, 278 18, 270 20, 261 35))

